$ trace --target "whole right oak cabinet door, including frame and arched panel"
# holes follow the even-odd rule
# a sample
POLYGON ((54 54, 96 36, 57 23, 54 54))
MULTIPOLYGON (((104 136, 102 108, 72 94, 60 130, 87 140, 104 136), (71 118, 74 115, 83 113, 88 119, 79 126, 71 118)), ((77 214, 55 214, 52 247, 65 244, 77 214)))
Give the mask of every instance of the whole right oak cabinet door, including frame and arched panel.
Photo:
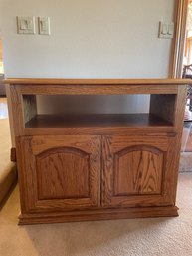
POLYGON ((102 206, 174 205, 174 141, 159 134, 104 136, 102 206))

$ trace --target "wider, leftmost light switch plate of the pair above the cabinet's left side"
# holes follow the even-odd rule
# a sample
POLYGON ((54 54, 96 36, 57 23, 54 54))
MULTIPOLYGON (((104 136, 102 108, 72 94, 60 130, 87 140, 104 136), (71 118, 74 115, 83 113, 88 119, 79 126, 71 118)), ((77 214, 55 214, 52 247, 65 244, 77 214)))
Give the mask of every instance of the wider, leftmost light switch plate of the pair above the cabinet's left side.
POLYGON ((17 17, 18 34, 35 34, 35 17, 17 17))

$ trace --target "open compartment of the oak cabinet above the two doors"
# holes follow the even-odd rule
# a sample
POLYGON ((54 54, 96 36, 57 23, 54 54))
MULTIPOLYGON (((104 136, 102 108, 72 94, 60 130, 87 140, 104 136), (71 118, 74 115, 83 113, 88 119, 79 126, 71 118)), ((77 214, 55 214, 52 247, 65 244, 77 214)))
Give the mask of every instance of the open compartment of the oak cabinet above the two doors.
POLYGON ((174 126, 176 95, 145 95, 146 102, 144 108, 142 107, 143 102, 139 102, 141 98, 138 96, 129 95, 129 99, 125 99, 124 95, 109 97, 105 95, 68 97, 23 95, 24 127, 146 128, 174 126), (41 98, 41 106, 38 103, 39 98, 41 98), (115 106, 111 105, 112 101, 114 104, 115 101, 121 103, 123 105, 121 110, 120 108, 115 110, 115 106), (124 103, 122 103, 123 101, 124 103), (45 108, 42 106, 42 102, 45 104, 45 108), (96 104, 100 108, 97 108, 96 104))

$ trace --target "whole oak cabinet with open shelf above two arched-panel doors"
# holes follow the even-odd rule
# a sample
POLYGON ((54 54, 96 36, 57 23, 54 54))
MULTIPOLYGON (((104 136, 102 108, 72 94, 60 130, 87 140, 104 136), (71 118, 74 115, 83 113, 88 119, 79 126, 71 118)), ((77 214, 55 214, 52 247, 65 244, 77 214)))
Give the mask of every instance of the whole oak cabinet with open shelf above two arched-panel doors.
POLYGON ((187 85, 173 79, 7 79, 19 224, 178 216, 187 85), (37 96, 150 95, 148 113, 39 114, 37 96))

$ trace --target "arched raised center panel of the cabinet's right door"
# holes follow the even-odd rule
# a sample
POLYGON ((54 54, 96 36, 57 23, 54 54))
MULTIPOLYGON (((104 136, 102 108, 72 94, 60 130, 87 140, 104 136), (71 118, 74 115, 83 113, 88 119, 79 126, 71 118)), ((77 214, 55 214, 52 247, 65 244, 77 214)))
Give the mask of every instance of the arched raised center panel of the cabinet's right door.
POLYGON ((130 146, 113 157, 114 196, 162 192, 162 151, 152 146, 130 146))

